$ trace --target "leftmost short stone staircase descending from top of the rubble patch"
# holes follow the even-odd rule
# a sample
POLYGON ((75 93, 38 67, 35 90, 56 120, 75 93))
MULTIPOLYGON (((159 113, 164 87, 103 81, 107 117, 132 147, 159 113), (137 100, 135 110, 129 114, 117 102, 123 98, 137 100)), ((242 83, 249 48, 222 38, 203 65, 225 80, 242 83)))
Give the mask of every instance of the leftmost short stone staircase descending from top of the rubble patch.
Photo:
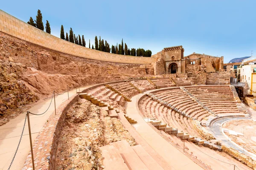
POLYGON ((87 99, 90 102, 92 102, 94 105, 98 105, 99 107, 101 107, 103 110, 108 112, 108 115, 112 118, 116 118, 118 119, 118 114, 119 110, 115 110, 111 105, 99 100, 98 98, 87 94, 87 93, 80 93, 79 94, 80 98, 82 99, 87 99))

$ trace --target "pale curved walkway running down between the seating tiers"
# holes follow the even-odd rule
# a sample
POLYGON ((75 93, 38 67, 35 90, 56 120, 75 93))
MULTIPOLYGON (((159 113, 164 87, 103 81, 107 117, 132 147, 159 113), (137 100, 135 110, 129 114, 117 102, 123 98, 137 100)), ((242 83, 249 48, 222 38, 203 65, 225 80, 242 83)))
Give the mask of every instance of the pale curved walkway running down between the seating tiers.
MULTIPOLYGON (((149 93, 147 91, 146 93, 149 93)), ((145 93, 144 93, 145 94, 145 93)), ((175 170, 203 170, 198 164, 189 159, 186 155, 177 150, 172 144, 167 142, 154 131, 143 120, 137 110, 137 99, 144 94, 138 94, 132 97, 131 102, 128 102, 126 112, 128 116, 137 121, 134 128, 145 139, 145 141, 159 154, 163 159, 168 162, 175 170), (138 97, 138 98, 137 98, 138 97)))

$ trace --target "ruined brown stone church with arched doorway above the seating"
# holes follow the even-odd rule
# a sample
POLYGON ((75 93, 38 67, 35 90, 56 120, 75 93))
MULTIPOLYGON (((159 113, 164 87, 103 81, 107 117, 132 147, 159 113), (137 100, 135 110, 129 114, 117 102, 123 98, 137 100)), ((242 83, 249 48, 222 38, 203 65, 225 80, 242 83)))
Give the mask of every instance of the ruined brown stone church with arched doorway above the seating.
POLYGON ((155 63, 155 74, 182 74, 189 72, 202 71, 214 73, 223 71, 224 57, 215 57, 205 54, 190 54, 184 57, 182 45, 163 48, 151 57, 157 57, 155 63))

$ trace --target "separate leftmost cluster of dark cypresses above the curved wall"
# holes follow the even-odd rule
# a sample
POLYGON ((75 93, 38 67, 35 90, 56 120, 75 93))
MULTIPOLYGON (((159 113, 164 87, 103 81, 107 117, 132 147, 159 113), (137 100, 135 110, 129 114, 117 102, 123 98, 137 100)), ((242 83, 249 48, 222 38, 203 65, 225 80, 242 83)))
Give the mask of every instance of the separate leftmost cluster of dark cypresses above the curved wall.
MULTIPOLYGON (((36 20, 33 20, 33 18, 30 17, 30 19, 27 23, 31 26, 34 26, 34 27, 44 31, 43 16, 42 16, 42 13, 39 9, 38 9, 38 14, 35 18, 36 18, 36 20)), ((47 33, 51 34, 51 27, 50 27, 50 23, 48 22, 48 20, 46 20, 45 31, 47 33)))

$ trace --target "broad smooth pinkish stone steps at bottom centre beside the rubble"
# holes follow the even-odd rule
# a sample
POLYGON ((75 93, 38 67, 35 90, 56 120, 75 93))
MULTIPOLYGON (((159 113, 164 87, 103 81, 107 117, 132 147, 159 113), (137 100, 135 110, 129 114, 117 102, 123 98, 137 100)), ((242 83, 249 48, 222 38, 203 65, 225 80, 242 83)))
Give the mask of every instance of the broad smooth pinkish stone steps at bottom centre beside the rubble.
POLYGON ((104 170, 163 170, 141 145, 130 146, 126 140, 100 147, 104 170))

